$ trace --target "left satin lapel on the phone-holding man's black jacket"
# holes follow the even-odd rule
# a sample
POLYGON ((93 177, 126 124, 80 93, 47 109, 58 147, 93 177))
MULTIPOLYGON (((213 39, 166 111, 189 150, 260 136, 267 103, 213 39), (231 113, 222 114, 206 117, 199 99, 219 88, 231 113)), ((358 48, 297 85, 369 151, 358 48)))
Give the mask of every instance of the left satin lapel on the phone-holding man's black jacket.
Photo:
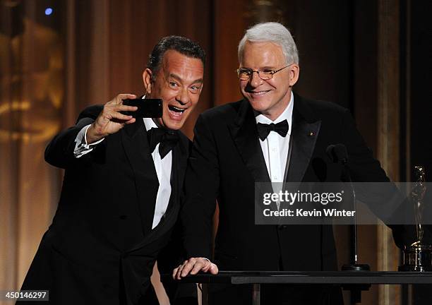
POLYGON ((144 234, 148 234, 152 229, 153 215, 155 215, 159 181, 148 146, 147 131, 145 131, 143 120, 137 120, 135 124, 126 125, 121 133, 121 141, 135 175, 141 226, 144 234))

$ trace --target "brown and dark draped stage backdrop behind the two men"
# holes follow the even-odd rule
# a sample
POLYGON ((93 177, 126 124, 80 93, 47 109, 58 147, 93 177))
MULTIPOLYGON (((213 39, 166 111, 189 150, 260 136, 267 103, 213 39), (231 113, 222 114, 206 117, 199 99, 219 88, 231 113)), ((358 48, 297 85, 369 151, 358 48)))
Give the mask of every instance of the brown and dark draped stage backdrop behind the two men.
MULTIPOLYGON (((20 287, 56 209, 63 172, 44 162, 44 147, 84 107, 142 94, 148 54, 165 35, 190 37, 208 54, 203 93, 184 126, 189 137, 200 112, 241 98, 235 69, 244 30, 276 20, 299 47, 296 92, 351 109, 395 181, 409 180, 414 164, 430 172, 427 2, 0 0, 0 290, 20 287)), ((335 234, 342 265, 348 230, 335 234)), ((359 241, 360 263, 397 268, 400 251, 386 227, 361 227, 359 241)), ((400 304, 410 293, 375 286, 363 298, 400 304)))

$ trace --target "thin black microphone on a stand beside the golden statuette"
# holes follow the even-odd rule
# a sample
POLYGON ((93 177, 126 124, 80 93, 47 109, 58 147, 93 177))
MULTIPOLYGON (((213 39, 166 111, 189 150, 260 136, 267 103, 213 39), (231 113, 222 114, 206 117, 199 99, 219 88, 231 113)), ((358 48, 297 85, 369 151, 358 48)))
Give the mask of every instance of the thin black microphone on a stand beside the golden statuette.
MULTIPOLYGON (((352 185, 351 175, 349 174, 349 168, 347 167, 348 162, 348 152, 347 147, 342 143, 328 145, 328 148, 325 150, 327 155, 330 157, 333 163, 340 163, 343 167, 343 171, 345 173, 344 177, 346 177, 347 182, 349 182, 349 189, 352 193, 352 205, 354 210, 356 210, 356 192, 354 191, 354 186, 352 185)), ((341 177, 342 178, 342 177, 341 177)), ((354 215, 354 224, 351 226, 351 234, 352 234, 352 258, 350 264, 342 265, 343 271, 369 271, 371 267, 367 264, 359 264, 358 258, 359 255, 357 253, 357 214, 354 215)))

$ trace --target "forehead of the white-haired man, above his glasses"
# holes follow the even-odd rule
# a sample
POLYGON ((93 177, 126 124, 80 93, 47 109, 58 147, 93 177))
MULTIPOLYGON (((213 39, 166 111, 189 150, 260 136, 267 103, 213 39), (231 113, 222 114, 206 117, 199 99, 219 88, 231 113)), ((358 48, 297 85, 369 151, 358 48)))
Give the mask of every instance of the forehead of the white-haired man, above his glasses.
POLYGON ((275 68, 286 61, 282 47, 273 42, 246 42, 240 59, 240 66, 247 68, 275 68))

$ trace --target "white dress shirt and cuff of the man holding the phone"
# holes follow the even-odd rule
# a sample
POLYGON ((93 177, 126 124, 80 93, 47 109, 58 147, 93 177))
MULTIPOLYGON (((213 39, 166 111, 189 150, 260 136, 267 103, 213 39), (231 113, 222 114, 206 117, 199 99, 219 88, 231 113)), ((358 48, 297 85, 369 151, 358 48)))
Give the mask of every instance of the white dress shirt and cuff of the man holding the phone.
MULTIPOLYGON (((151 128, 157 128, 157 125, 152 119, 144 118, 143 120, 145 130, 149 131, 151 128)), ((95 143, 88 144, 86 135, 89 127, 90 125, 84 126, 75 139, 76 145, 75 150, 73 150, 73 155, 75 155, 76 158, 88 154, 93 150, 93 148, 95 148, 95 145, 101 143, 102 140, 104 140, 102 138, 95 143)), ((163 159, 161 159, 159 154, 159 145, 160 143, 157 143, 155 150, 152 151, 152 158, 155 164, 157 179, 159 181, 159 189, 157 189, 155 215, 153 215, 152 229, 154 229, 159 224, 160 220, 167 211, 169 197, 171 196, 172 150, 169 151, 163 159)))

